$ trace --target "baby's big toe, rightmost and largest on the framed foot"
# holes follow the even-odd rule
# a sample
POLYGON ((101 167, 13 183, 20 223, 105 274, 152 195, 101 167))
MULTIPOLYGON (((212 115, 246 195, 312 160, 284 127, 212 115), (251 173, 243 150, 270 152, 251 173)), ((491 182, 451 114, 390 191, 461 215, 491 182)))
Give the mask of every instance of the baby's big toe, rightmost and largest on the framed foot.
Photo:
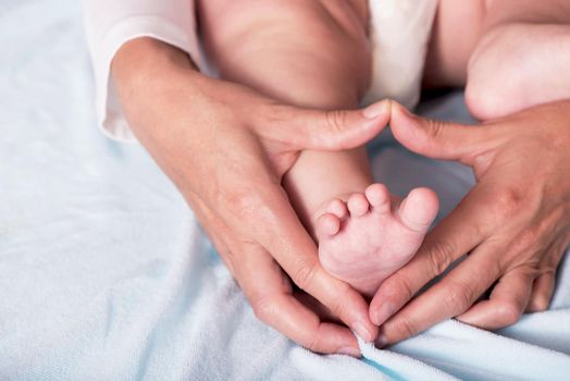
POLYGON ((429 188, 416 188, 400 204, 401 222, 417 232, 426 232, 437 216, 439 201, 437 195, 429 188))

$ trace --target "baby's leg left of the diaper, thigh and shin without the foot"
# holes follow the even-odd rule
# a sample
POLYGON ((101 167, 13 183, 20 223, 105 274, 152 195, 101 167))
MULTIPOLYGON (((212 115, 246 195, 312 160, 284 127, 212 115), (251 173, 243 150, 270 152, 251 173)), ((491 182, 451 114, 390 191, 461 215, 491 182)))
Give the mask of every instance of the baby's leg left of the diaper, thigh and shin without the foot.
MULTIPOLYGON (((200 16, 222 77, 288 105, 358 106, 370 81, 365 1, 237 0, 226 7, 220 1, 207 0, 200 16)), ((363 148, 303 151, 284 179, 309 230, 323 202, 363 192, 370 183, 363 148)))

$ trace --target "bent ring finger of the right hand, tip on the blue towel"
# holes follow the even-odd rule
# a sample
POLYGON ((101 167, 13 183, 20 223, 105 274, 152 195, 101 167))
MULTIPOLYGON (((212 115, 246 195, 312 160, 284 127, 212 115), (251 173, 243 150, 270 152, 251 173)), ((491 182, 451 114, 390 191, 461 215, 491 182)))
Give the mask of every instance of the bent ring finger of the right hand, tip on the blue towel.
POLYGON ((515 324, 526 308, 535 273, 517 268, 503 275, 493 287, 488 300, 472 306, 457 320, 486 330, 515 324))

